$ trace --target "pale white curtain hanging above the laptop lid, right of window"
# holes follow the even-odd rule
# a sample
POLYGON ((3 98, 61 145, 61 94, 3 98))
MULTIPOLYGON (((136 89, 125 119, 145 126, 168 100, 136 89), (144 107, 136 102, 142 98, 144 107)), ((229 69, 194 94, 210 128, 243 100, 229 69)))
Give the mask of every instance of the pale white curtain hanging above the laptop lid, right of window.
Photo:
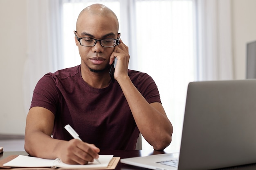
POLYGON ((197 0, 198 80, 234 78, 231 0, 197 0))

